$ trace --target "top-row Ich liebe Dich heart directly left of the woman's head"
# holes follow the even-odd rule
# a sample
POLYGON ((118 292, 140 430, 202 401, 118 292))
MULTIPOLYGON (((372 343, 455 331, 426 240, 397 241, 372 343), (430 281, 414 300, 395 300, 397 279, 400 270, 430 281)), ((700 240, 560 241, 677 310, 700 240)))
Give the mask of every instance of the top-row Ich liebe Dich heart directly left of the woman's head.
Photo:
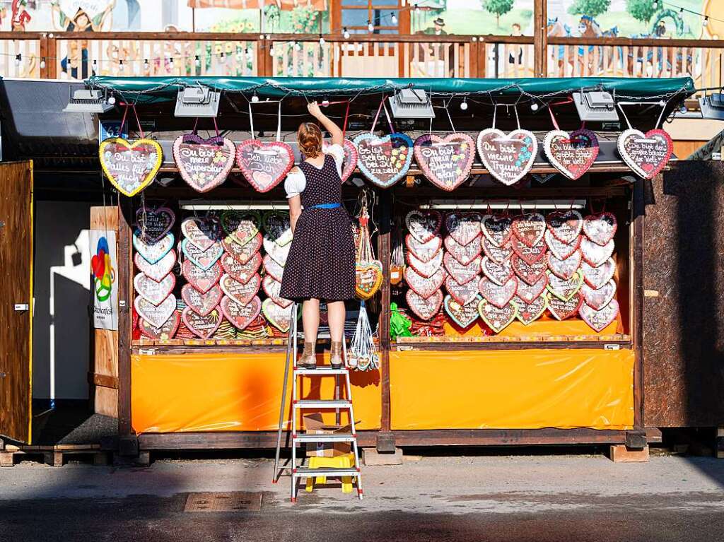
POLYGON ((294 151, 283 141, 245 140, 236 146, 236 164, 257 192, 269 192, 294 166, 294 151))

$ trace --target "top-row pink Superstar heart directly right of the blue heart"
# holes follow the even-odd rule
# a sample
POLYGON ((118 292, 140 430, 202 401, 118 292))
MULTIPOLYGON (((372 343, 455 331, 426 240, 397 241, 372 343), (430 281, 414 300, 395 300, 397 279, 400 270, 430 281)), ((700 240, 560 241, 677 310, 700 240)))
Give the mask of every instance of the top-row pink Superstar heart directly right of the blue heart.
POLYGON ((438 188, 450 191, 462 185, 470 175, 475 160, 475 142, 464 132, 445 137, 424 134, 415 140, 414 154, 425 177, 438 188))

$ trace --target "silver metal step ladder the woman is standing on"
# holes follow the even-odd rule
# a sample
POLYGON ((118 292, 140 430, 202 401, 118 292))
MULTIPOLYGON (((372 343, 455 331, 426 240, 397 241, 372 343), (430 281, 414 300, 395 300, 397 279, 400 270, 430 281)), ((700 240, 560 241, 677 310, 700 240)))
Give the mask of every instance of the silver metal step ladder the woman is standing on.
MULTIPOLYGON (((291 471, 292 488, 291 500, 297 501, 297 491, 301 478, 314 478, 316 476, 325 476, 327 478, 350 477, 355 480, 357 485, 357 495, 360 500, 363 499, 362 491, 362 472, 360 469, 360 455, 357 447, 357 431, 355 430, 355 417, 352 407, 352 389, 350 386, 350 371, 347 367, 347 346, 346 339, 342 338, 342 368, 335 369, 329 365, 317 365, 316 369, 304 369, 297 366, 298 355, 298 339, 303 339, 303 332, 298 329, 298 309, 299 304, 292 305, 292 318, 289 326, 289 336, 287 338, 287 359, 284 368, 284 385, 282 386, 282 400, 279 402, 279 428, 277 429, 277 452, 274 456, 274 479, 271 483, 277 483, 279 477, 285 470, 291 471), (289 381, 289 369, 292 367, 292 431, 290 446, 292 449, 291 461, 288 465, 280 465, 280 454, 282 449, 282 433, 284 432, 285 409, 287 402, 287 382, 289 381), (300 380, 303 376, 311 377, 334 377, 334 399, 300 399, 298 397, 300 380), (344 378, 345 394, 340 395, 340 379, 344 378), (349 413, 350 433, 334 433, 328 435, 315 435, 311 433, 298 433, 297 419, 303 410, 321 410, 334 409, 336 413, 336 423, 340 423, 340 412, 346 410, 349 413), (352 452, 354 455, 354 467, 352 468, 317 468, 311 469, 305 465, 305 457, 300 458, 298 464, 297 447, 308 443, 320 442, 349 442, 352 444, 352 452)), ((327 339, 328 334, 319 334, 318 339, 327 339)), ((288 439, 287 439, 288 442, 288 439)))

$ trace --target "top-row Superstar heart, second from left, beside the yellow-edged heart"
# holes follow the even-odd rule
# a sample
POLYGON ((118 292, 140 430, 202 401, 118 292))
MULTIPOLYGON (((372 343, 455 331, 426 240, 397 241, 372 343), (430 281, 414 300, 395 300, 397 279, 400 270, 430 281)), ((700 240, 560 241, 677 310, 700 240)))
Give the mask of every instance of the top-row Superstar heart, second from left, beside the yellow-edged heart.
POLYGON ((191 142, 187 134, 176 138, 173 153, 186 184, 196 192, 209 192, 226 180, 234 166, 236 147, 226 137, 211 137, 210 140, 198 137, 191 142))

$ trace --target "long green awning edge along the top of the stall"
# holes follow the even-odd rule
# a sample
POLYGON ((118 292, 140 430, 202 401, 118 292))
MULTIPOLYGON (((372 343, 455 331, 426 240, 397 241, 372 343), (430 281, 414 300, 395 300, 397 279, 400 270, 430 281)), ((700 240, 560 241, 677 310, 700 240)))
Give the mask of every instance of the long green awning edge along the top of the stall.
POLYGON ((571 93, 576 90, 607 90, 620 99, 668 99, 694 92, 691 77, 670 79, 634 77, 558 77, 523 79, 375 79, 345 77, 91 77, 93 88, 113 91, 122 99, 141 103, 171 101, 179 88, 204 85, 228 93, 257 93, 261 98, 284 96, 355 96, 413 86, 432 93, 534 96, 571 93))

